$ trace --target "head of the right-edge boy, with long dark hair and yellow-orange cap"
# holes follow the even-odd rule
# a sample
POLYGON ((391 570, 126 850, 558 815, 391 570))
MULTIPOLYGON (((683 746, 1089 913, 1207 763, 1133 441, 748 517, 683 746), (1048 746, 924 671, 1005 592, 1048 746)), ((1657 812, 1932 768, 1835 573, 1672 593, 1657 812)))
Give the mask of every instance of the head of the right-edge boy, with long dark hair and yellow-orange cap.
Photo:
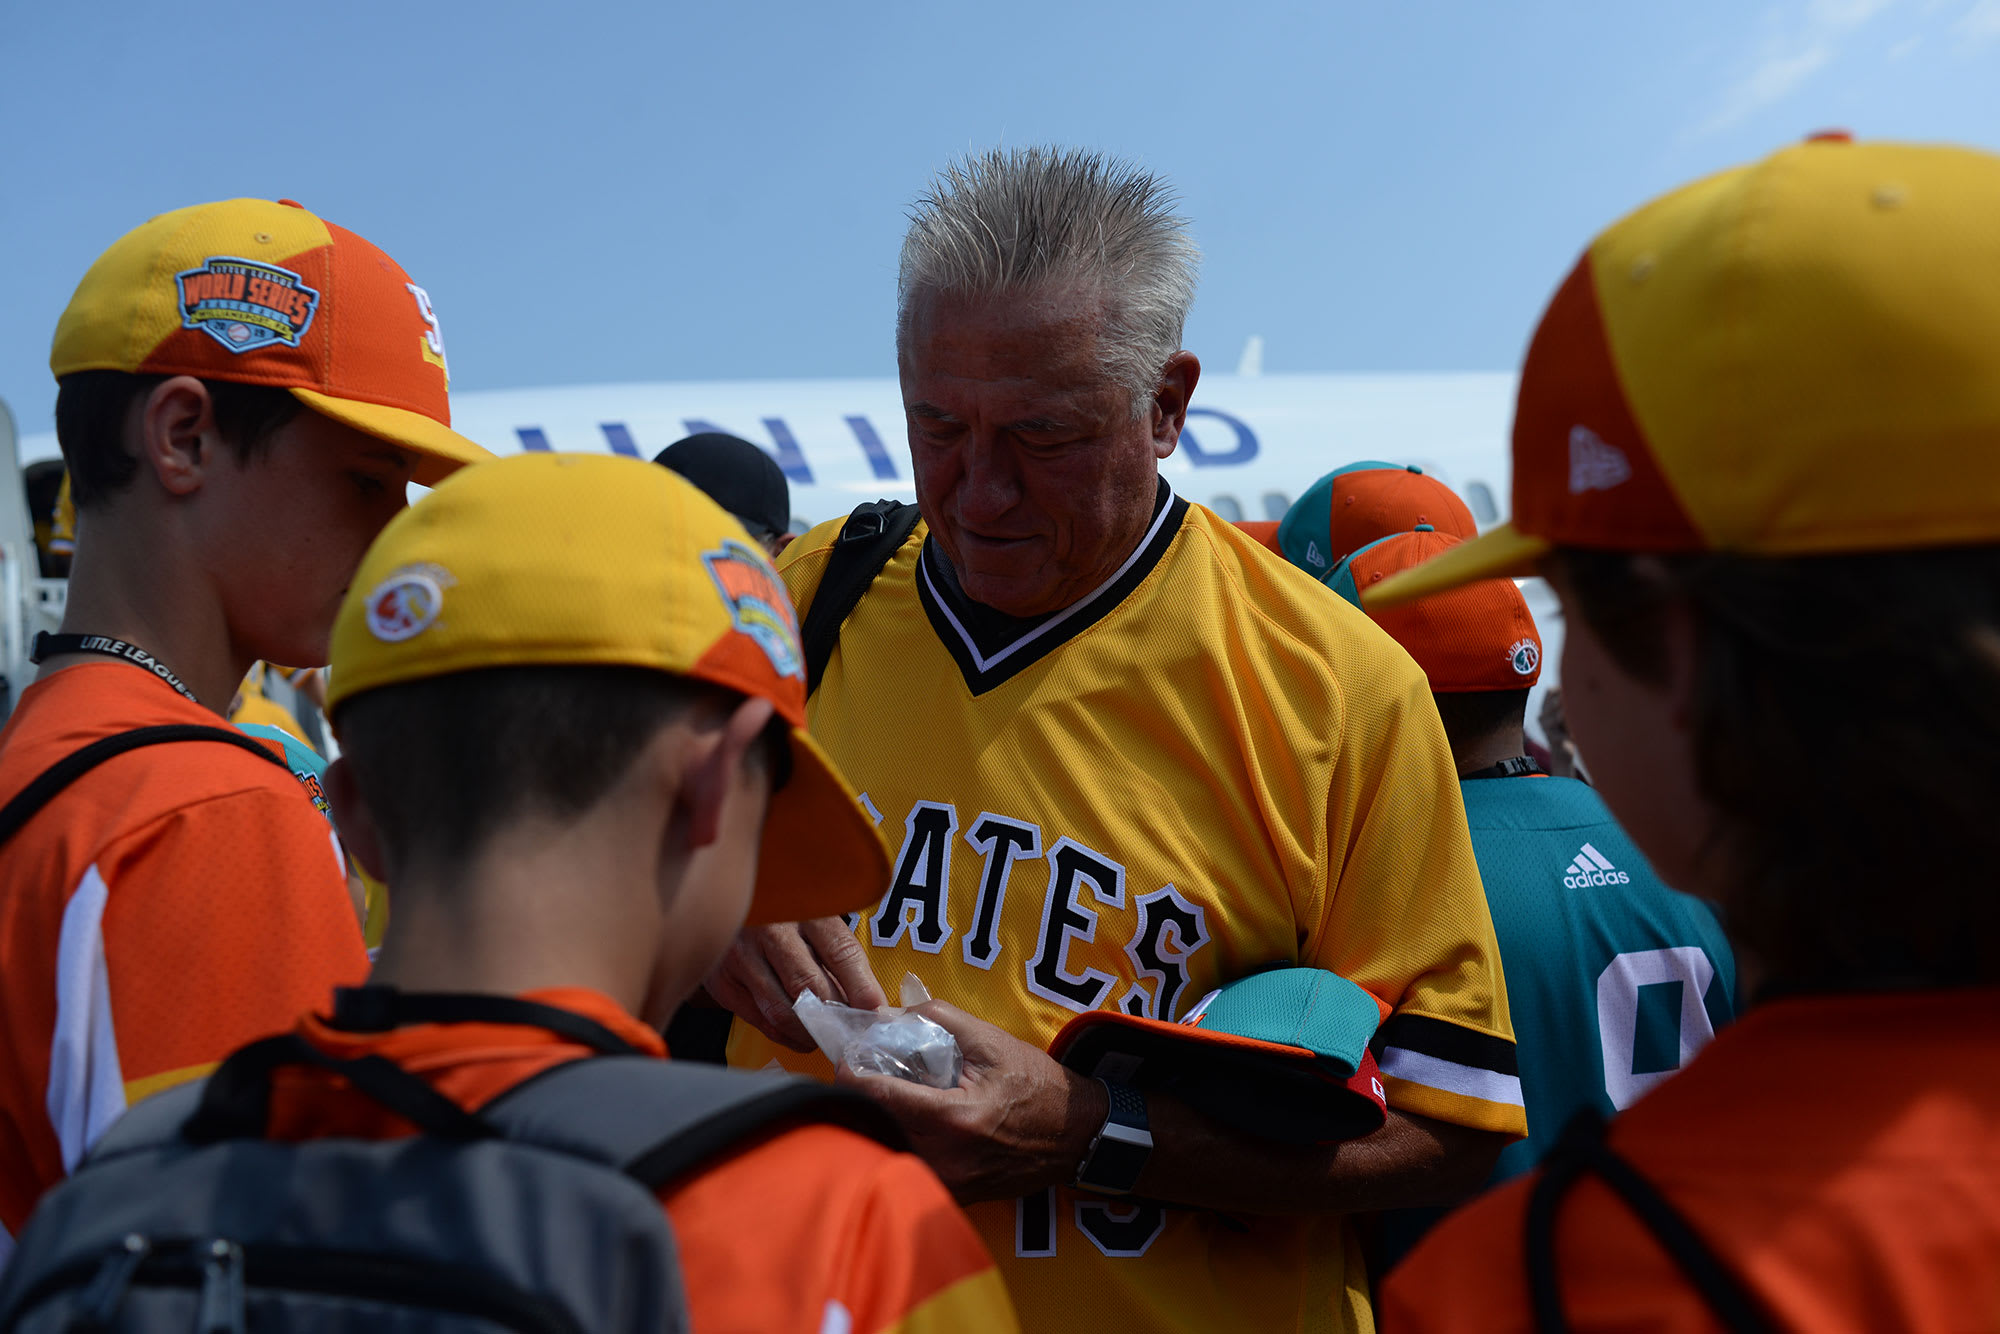
POLYGON ((1592 778, 1788 982, 2000 978, 2000 158, 1808 142, 1606 230, 1528 350, 1514 516, 1592 778))

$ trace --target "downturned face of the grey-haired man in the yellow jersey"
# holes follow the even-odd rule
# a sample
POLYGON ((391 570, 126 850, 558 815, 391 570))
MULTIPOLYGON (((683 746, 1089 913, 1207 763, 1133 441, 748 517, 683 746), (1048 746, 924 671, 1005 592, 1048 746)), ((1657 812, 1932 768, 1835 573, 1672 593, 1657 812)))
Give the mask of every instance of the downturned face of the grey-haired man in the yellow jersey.
POLYGON ((910 312, 916 500, 966 596, 1010 616, 1056 612, 1118 570, 1180 436, 1184 396, 1134 416, 1104 374, 1100 320, 1098 298, 1062 292, 926 296, 910 312))

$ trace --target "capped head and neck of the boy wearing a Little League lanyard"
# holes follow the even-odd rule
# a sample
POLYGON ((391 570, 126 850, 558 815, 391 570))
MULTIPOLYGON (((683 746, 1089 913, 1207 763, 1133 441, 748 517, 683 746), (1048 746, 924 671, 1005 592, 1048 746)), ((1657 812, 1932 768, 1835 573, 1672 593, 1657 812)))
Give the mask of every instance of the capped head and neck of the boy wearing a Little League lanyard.
POLYGON ((408 482, 488 456, 450 430, 430 296, 296 204, 200 204, 128 232, 70 298, 50 370, 92 544, 184 552, 232 640, 280 662, 324 662, 408 482))

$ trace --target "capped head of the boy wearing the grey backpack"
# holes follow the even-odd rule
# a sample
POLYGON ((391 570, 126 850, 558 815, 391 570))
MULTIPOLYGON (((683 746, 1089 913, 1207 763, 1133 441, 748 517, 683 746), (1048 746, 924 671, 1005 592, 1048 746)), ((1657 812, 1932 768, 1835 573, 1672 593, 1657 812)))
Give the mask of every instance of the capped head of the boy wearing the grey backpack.
POLYGON ((700 884, 674 912, 716 916, 722 942, 746 908, 826 916, 888 884, 806 736, 784 584, 666 468, 524 454, 440 486, 362 562, 328 704, 392 884, 450 884, 506 832, 622 800, 708 802, 690 816, 700 884))

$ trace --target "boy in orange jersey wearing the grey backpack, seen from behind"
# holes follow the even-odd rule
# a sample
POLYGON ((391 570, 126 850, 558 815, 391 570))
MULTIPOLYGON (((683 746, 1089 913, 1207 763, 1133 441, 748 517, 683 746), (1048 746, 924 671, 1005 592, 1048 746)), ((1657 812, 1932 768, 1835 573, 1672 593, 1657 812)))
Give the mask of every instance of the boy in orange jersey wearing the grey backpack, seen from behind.
MULTIPOLYGON (((466 1110, 592 1046, 666 1056, 656 1028, 746 914, 840 912, 888 880, 806 736, 776 572, 666 468, 520 456, 440 486, 362 562, 330 676, 334 806, 396 912, 370 986, 298 1032, 466 1110), (562 1032, 426 1022, 436 992, 562 1032)), ((270 1134, 408 1124, 312 1072, 276 1082, 270 1134)), ((658 1194, 696 1330, 1016 1328, 930 1170, 852 1130, 752 1138, 658 1194)))

